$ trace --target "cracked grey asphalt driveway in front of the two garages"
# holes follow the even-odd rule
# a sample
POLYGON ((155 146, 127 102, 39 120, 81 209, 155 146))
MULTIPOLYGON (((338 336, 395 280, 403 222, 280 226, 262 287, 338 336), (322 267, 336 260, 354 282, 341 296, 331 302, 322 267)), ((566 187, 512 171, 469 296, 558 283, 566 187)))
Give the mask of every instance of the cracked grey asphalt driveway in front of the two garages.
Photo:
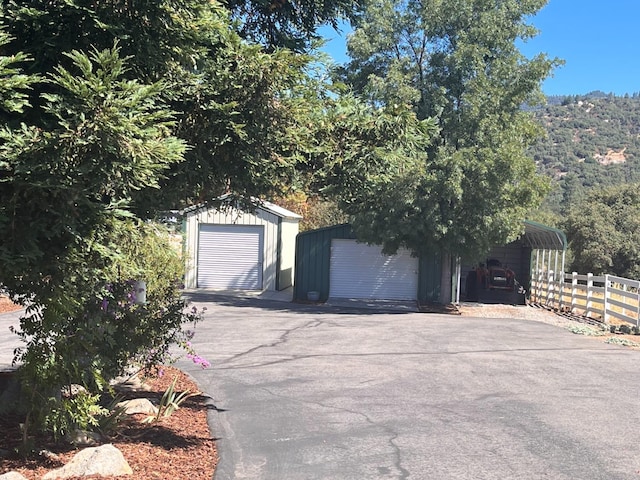
MULTIPOLYGON (((639 479, 640 352, 548 324, 224 297, 216 480, 639 479)), ((216 300, 216 301, 211 301, 216 300)))

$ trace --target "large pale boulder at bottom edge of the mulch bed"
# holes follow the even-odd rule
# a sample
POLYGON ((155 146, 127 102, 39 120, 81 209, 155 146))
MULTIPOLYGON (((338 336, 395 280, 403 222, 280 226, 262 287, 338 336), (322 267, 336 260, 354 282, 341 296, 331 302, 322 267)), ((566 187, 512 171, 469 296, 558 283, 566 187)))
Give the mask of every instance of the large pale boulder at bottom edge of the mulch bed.
POLYGON ((67 465, 50 471, 42 477, 42 480, 88 475, 119 477, 131 474, 133 474, 133 470, 131 470, 122 452, 113 445, 106 444, 100 447, 86 448, 78 452, 67 465))

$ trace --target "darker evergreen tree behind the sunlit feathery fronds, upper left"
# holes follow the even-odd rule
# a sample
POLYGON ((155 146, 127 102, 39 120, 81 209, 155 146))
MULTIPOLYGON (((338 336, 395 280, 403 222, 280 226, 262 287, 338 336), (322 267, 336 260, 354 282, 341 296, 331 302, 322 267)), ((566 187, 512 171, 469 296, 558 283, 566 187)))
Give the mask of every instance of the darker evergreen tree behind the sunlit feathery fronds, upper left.
MULTIPOLYGON (((176 112, 172 133, 189 148, 164 172, 161 188, 134 196, 138 215, 153 217, 228 192, 271 196, 291 184, 296 158, 283 154, 292 122, 288 92, 304 81, 311 58, 243 42, 220 4, 16 0, 2 6, 2 15, 14 37, 5 51, 33 58, 24 67, 29 74, 68 65, 63 52, 104 50, 117 41, 128 58, 123 78, 164 82, 162 99, 176 112)), ((47 128, 41 94, 56 88, 33 90, 27 123, 47 128)))

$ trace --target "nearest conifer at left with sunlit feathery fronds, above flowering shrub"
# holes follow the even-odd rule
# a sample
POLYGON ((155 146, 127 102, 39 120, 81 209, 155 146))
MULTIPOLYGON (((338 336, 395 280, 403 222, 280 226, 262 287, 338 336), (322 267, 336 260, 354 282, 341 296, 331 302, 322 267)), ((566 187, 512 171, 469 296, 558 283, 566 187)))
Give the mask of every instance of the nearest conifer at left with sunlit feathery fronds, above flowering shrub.
POLYGON ((126 216, 135 193, 157 188, 185 150, 171 135, 162 83, 123 79, 117 49, 69 57, 76 72, 57 68, 47 83, 60 93, 43 94, 50 128, 2 138, 2 283, 30 300, 46 301, 68 274, 69 252, 126 216))

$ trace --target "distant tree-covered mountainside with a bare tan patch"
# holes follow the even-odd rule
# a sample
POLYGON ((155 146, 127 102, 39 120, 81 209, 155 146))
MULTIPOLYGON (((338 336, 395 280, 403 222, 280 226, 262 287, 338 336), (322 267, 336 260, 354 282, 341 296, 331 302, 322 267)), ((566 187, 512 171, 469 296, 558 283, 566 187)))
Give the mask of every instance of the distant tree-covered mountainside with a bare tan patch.
POLYGON ((640 95, 554 96, 534 110, 547 131, 530 153, 553 179, 545 210, 564 216, 595 187, 640 182, 640 95))

